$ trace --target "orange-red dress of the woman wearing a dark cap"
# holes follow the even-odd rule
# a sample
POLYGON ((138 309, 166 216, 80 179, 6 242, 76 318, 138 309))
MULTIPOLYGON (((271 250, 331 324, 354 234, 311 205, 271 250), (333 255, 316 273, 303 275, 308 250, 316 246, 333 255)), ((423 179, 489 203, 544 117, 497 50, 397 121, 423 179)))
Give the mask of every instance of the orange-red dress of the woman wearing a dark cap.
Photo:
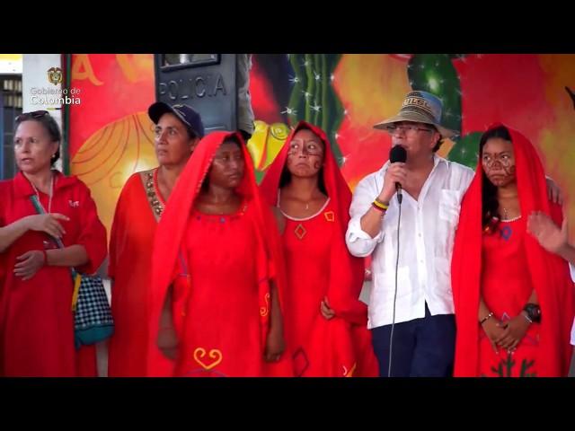
POLYGON ((114 335, 109 343, 108 375, 146 375, 147 301, 156 229, 140 174, 133 174, 119 195, 110 237, 114 335))

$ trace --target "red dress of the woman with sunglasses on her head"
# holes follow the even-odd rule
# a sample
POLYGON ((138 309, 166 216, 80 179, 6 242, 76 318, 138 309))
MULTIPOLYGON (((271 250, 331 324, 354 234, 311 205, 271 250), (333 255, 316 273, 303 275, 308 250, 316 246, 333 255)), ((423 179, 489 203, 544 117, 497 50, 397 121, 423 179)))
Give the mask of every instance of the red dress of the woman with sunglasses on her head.
MULTIPOLYGON (((19 172, 0 182, 0 225, 37 214, 31 204, 31 184, 19 172)), ((48 209, 49 197, 40 193, 48 209)), ((70 217, 61 222, 66 246, 84 245, 89 262, 78 268, 93 273, 106 256, 106 230, 98 218, 89 189, 75 177, 57 173, 51 210, 70 217)), ((0 357, 3 375, 96 375, 94 347, 74 347, 72 278, 66 267, 43 267, 28 281, 13 275, 16 257, 31 250, 57 248, 46 233, 28 231, 2 254, 4 278, 0 291, 0 357)))

